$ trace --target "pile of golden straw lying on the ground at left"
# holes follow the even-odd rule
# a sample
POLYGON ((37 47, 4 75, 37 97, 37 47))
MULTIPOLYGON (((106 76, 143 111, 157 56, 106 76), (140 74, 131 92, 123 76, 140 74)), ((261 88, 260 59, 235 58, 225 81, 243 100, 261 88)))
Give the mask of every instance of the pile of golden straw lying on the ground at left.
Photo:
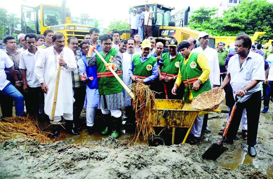
POLYGON ((52 139, 51 130, 56 126, 50 125, 46 121, 36 123, 31 118, 18 116, 5 118, 4 120, 0 121, 0 142, 7 139, 25 137, 39 140, 41 143, 50 143, 67 136, 65 132, 61 132, 55 140, 52 139))

